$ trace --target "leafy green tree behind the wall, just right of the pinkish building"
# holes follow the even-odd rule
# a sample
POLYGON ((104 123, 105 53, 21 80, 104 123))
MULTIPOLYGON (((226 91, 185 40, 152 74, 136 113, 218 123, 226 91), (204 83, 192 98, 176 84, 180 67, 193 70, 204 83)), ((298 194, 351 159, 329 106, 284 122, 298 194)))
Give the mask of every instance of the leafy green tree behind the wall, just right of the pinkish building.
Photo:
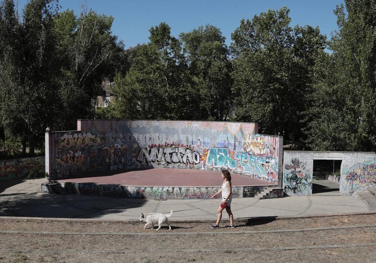
POLYGON ((135 48, 126 76, 117 74, 114 108, 118 118, 181 119, 190 113, 180 42, 166 23, 152 27, 150 43, 135 48), (188 109, 188 111, 186 110, 188 109))

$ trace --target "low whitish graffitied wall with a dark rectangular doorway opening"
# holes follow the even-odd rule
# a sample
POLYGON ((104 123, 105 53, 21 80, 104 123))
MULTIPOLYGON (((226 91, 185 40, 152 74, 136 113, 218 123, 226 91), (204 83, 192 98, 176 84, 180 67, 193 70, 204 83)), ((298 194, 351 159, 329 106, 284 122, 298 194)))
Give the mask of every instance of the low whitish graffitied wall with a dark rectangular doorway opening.
POLYGON ((311 195, 313 160, 342 160, 340 193, 376 185, 376 154, 364 152, 284 151, 283 188, 288 195, 311 195))

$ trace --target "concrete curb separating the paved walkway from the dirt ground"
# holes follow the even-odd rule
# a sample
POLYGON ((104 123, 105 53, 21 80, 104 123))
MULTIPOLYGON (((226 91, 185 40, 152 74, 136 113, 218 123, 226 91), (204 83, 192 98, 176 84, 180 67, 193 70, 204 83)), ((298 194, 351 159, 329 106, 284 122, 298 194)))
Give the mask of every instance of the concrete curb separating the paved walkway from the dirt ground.
MULTIPOLYGON (((234 222, 244 221, 264 221, 264 220, 286 220, 286 219, 304 219, 304 218, 321 218, 329 216, 349 216, 349 215, 376 215, 376 211, 372 212, 355 212, 355 213, 341 213, 341 214, 323 214, 323 215, 307 215, 307 216, 259 216, 247 218, 235 218, 234 222)), ((14 220, 14 221, 56 221, 56 222, 119 222, 119 223, 139 223, 138 220, 118 220, 118 219, 92 219, 92 218, 42 218, 42 217, 23 217, 23 216, 0 216, 0 221, 14 220)), ((210 223, 212 220, 169 220, 174 223, 210 223)))

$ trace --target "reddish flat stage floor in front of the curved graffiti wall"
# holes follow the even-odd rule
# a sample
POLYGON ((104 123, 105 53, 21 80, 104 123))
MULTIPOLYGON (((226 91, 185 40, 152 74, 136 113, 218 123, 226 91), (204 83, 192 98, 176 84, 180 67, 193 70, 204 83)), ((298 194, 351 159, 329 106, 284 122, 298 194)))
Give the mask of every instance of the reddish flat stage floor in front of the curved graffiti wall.
MULTIPOLYGON (((58 180, 71 183, 117 184, 126 186, 172 186, 172 187, 210 187, 221 186, 220 171, 195 169, 156 168, 129 171, 119 174, 58 180)), ((264 180, 241 174, 231 174, 232 186, 274 186, 264 180)))

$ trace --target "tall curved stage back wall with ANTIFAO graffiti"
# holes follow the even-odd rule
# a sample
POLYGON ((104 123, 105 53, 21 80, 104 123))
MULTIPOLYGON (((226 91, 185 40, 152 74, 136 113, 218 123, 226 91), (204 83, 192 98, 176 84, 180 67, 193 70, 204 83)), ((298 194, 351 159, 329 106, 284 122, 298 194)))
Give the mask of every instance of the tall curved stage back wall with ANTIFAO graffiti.
POLYGON ((55 179, 147 168, 229 169, 276 184, 282 175, 283 138, 259 135, 257 123, 78 120, 77 131, 45 139, 55 179))

